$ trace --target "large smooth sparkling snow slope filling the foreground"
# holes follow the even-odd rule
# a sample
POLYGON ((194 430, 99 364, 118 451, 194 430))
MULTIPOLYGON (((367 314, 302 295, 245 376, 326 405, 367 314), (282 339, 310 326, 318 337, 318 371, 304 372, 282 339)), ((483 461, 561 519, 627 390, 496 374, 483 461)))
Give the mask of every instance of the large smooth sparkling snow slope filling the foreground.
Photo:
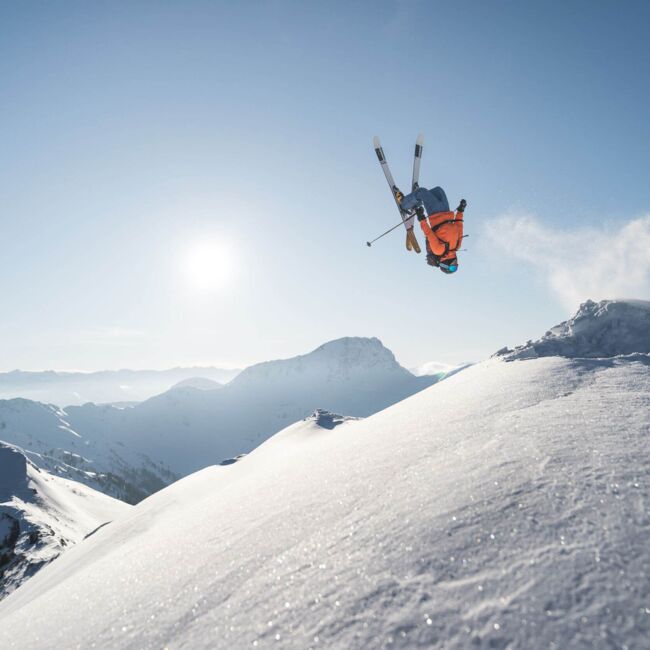
POLYGON ((46 567, 0 647, 647 647, 648 357, 493 359, 316 419, 46 567))

